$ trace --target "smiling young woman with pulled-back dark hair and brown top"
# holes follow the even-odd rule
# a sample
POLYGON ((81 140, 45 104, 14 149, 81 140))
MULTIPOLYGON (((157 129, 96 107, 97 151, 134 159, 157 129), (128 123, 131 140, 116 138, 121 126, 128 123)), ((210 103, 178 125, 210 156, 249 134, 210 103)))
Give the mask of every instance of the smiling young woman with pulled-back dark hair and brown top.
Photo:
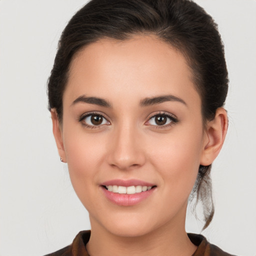
POLYGON ((229 255, 184 228, 190 194, 204 204, 204 228, 213 216, 227 83, 216 25, 195 3, 81 8, 61 35, 48 97, 91 231, 50 255, 229 255))

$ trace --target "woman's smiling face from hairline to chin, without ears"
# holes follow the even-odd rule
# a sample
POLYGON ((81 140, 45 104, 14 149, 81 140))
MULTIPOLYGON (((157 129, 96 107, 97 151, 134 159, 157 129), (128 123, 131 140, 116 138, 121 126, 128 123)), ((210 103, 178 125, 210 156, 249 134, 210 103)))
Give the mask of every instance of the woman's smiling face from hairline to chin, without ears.
POLYGON ((136 236, 184 226, 207 135, 180 52, 153 36, 84 47, 71 62, 60 132, 92 228, 136 236))

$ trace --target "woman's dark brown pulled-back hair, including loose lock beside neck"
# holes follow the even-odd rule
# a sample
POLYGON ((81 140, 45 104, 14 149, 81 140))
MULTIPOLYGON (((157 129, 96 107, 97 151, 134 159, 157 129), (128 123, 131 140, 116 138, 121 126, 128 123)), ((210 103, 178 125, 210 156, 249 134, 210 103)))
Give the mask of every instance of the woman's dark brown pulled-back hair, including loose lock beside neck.
MULTIPOLYGON (((125 40, 149 33, 171 44, 185 56, 201 97, 204 122, 213 119, 224 104, 228 78, 223 44, 212 17, 190 0, 91 0, 78 10, 63 30, 48 79, 49 109, 62 120, 62 95, 73 55, 101 38, 125 40)), ((204 206, 203 228, 210 223, 214 207, 211 165, 198 168, 191 192, 204 206)))

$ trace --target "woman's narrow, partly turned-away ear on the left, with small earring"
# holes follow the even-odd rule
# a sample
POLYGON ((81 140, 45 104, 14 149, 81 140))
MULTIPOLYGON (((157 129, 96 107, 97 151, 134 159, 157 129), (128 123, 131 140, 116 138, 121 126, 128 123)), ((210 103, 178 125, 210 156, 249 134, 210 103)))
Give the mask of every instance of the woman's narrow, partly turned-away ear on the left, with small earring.
POLYGON ((52 120, 52 131, 56 141, 58 154, 63 162, 66 162, 66 154, 63 146, 62 129, 55 109, 50 110, 52 120))

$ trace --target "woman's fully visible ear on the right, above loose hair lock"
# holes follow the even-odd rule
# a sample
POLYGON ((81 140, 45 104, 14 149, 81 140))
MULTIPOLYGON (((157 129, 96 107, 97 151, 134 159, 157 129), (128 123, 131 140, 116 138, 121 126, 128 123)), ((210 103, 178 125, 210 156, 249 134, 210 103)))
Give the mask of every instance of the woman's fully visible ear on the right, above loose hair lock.
POLYGON ((217 157, 226 136, 227 123, 226 110, 223 107, 217 108, 214 119, 206 124, 201 165, 209 165, 217 157))

